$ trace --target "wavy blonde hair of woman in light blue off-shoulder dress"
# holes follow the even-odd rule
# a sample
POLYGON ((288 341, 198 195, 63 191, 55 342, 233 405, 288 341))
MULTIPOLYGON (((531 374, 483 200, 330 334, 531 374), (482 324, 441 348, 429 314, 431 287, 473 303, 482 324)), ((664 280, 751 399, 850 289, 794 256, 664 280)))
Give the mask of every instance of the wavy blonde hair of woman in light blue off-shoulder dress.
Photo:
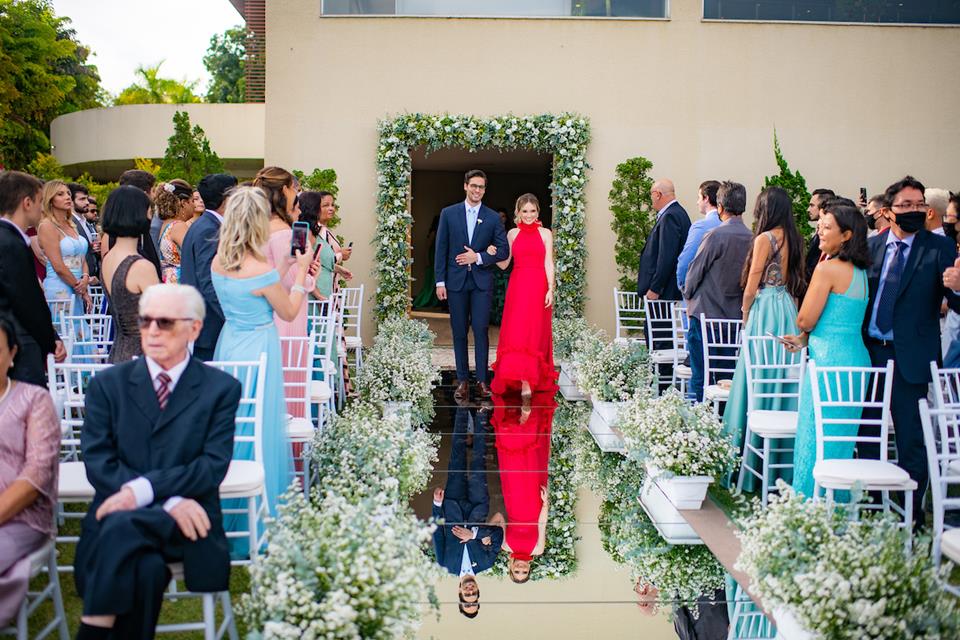
POLYGON ((224 271, 239 271, 243 258, 265 260, 260 247, 270 239, 270 201, 259 187, 237 187, 227 200, 217 254, 224 271))

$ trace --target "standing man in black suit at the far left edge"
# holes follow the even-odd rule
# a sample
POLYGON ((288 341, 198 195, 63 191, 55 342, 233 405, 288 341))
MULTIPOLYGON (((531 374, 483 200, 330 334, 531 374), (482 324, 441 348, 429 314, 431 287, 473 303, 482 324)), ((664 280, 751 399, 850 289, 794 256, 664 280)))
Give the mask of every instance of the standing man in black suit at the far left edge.
POLYGON ((20 348, 10 377, 45 386, 46 359, 67 352, 53 328, 50 308, 33 268, 27 229, 40 224, 43 183, 19 171, 0 172, 0 309, 9 309, 20 348))

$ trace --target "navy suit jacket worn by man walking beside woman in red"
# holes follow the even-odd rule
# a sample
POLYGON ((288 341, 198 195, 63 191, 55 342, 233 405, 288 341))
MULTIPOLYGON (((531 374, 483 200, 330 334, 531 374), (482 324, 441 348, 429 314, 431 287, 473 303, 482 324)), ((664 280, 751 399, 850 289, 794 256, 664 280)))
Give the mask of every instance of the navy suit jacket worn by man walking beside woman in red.
POLYGON ((458 202, 440 212, 440 225, 437 227, 437 248, 434 257, 434 276, 437 282, 443 282, 450 291, 461 291, 466 286, 467 278, 473 277, 477 289, 489 291, 493 288, 493 269, 496 263, 510 257, 510 245, 507 243, 507 232, 500 222, 500 214, 481 203, 477 213, 477 225, 473 230, 473 242, 467 235, 467 205, 458 202), (497 254, 487 253, 487 247, 494 245, 497 254), (464 246, 469 246, 477 253, 483 254, 483 264, 461 267, 457 264, 457 256, 464 252, 464 246))

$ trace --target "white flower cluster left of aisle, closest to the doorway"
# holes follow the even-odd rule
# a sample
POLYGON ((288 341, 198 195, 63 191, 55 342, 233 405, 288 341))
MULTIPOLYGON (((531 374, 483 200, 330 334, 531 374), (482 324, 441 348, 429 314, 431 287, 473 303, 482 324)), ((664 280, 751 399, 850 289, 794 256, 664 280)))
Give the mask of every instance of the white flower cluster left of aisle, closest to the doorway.
POLYGON ((440 368, 430 358, 432 343, 433 334, 423 322, 399 317, 383 321, 357 376, 360 397, 376 405, 410 402, 414 423, 429 422, 433 388, 440 381, 440 368))

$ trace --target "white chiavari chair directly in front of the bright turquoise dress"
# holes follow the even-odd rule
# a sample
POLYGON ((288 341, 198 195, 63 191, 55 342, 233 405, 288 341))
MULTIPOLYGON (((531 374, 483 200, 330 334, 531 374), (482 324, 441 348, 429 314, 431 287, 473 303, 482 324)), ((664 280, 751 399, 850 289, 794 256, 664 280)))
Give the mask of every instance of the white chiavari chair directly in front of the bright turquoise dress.
MULTIPOLYGON (((917 483, 889 460, 893 361, 885 367, 818 367, 810 362, 808 371, 817 435, 814 499, 819 499, 821 489, 830 504, 836 491, 879 491, 883 500, 876 507, 902 516, 910 531, 917 483), (841 443, 850 448, 875 445, 880 459, 827 458, 826 445, 841 443), (903 507, 890 499, 891 491, 904 493, 903 507)), ((855 511, 861 508, 871 507, 858 504, 855 511)))

